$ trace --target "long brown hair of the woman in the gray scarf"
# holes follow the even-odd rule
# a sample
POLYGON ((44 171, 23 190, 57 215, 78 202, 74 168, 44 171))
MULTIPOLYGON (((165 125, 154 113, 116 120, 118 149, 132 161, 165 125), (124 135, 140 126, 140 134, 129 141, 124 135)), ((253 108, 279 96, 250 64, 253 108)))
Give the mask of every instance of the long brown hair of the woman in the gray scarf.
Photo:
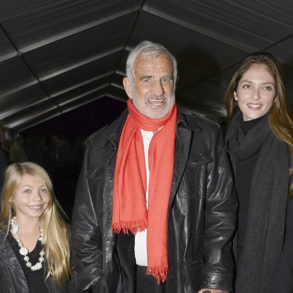
MULTIPOLYGON (((276 83, 276 96, 272 108, 269 111, 270 128, 274 135, 281 141, 289 145, 291 160, 293 159, 293 119, 290 111, 285 77, 279 61, 270 53, 258 52, 249 55, 244 59, 234 73, 225 93, 225 103, 227 108, 227 123, 229 124, 233 115, 238 111, 238 104, 234 100, 234 91, 237 92, 238 82, 252 66, 264 65, 274 78, 276 83)), ((293 176, 293 166, 289 168, 290 176, 293 176)), ((289 190, 293 197, 293 182, 289 190)))

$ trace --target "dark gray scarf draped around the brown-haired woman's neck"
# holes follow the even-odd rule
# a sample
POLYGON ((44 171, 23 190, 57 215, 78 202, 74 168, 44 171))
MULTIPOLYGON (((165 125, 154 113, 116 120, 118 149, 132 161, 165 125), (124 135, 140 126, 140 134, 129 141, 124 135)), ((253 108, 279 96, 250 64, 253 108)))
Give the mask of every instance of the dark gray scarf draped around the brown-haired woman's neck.
POLYGON ((289 188, 290 153, 272 133, 268 115, 245 136, 241 112, 231 120, 225 142, 234 173, 236 159, 260 150, 254 170, 245 242, 237 260, 236 293, 268 293, 282 250, 289 188))

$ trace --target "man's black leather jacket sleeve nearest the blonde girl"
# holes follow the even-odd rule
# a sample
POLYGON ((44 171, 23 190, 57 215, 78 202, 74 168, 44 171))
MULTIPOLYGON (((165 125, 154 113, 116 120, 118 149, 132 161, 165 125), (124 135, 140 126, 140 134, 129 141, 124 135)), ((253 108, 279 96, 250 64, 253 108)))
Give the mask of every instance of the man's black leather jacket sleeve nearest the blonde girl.
POLYGON ((87 179, 90 150, 87 146, 76 188, 72 214, 72 269, 70 292, 83 292, 91 285, 104 291, 102 233, 95 214, 96 194, 87 179))

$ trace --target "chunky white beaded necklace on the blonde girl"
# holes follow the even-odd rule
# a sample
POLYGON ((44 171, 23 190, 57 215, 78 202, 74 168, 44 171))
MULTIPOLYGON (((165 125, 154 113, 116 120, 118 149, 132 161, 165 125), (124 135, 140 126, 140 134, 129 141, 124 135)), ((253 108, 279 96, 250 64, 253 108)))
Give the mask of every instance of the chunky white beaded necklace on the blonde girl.
MULTIPOLYGON (((27 256, 28 254, 28 249, 23 247, 23 244, 21 242, 21 239, 19 237, 19 235, 17 234, 18 230, 19 230, 19 226, 17 224, 14 223, 15 217, 13 217, 10 220, 10 225, 11 225, 11 229, 10 232, 12 233, 12 235, 14 236, 14 238, 16 239, 18 246, 20 247, 19 253, 21 255, 24 256, 24 261, 26 262, 26 266, 29 267, 32 271, 36 271, 42 268, 42 262, 44 261, 43 256, 45 255, 43 249, 40 251, 39 255, 39 262, 36 263, 34 266, 31 264, 31 262, 29 262, 29 257, 27 256)), ((38 238, 39 241, 42 241, 42 236, 43 236, 43 230, 41 228, 40 222, 38 223, 39 225, 39 229, 40 229, 40 237, 38 238)), ((42 242, 41 242, 42 243, 42 242)))

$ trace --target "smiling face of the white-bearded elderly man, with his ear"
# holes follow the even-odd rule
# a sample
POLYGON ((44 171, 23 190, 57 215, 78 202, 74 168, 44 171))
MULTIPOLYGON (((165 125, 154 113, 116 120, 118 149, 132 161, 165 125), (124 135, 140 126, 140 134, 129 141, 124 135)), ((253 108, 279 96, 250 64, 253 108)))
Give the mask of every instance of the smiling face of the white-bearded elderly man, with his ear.
POLYGON ((162 118, 175 103, 173 64, 166 55, 139 56, 134 63, 134 83, 124 88, 136 109, 150 118, 162 118))

